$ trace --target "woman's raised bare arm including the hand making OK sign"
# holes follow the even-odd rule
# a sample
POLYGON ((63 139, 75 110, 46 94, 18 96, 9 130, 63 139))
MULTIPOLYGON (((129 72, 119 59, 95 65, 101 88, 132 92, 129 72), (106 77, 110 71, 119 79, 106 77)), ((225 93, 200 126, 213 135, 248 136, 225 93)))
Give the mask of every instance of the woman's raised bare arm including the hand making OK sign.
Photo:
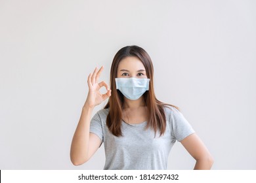
POLYGON ((88 161, 101 144, 100 138, 94 133, 90 133, 90 123, 93 108, 111 95, 108 84, 104 81, 98 82, 102 70, 103 67, 100 70, 95 68, 93 74, 90 74, 87 79, 89 93, 83 106, 77 128, 75 129, 70 148, 70 159, 74 165, 81 165, 88 161), (100 93, 100 88, 102 87, 108 90, 104 94, 100 93))

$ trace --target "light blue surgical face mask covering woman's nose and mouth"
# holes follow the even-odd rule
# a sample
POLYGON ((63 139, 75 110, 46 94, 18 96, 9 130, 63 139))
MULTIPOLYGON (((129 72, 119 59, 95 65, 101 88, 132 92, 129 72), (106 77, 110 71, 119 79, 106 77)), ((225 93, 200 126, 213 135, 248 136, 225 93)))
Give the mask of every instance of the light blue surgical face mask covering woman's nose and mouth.
POLYGON ((149 78, 116 78, 116 89, 127 99, 137 100, 149 88, 149 78))

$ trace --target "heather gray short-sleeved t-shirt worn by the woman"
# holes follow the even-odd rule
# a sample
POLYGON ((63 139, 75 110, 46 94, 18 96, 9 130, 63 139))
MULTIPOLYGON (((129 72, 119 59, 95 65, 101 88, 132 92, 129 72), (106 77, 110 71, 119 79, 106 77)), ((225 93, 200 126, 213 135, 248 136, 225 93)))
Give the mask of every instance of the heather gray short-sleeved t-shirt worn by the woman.
POLYGON ((127 124, 122 121, 123 136, 112 135, 106 125, 108 108, 96 112, 91 120, 90 132, 104 142, 106 162, 104 169, 167 169, 168 155, 175 141, 194 133, 181 112, 165 107, 166 129, 160 137, 146 122, 127 124))

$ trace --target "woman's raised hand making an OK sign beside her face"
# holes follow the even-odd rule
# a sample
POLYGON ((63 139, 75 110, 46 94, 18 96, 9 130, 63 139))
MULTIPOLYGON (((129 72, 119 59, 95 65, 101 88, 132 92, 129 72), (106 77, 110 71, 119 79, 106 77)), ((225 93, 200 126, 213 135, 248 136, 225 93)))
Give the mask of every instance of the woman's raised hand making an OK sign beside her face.
POLYGON ((90 73, 90 75, 88 76, 87 83, 89 86, 89 92, 88 92, 84 107, 93 108, 96 105, 99 105, 100 103, 102 103, 102 101, 106 100, 108 97, 110 97, 111 90, 108 87, 108 84, 106 84, 106 82, 104 81, 98 82, 98 78, 100 77, 100 73, 102 71, 103 71, 103 66, 100 67, 100 70, 98 70, 96 67, 93 74, 90 73), (103 86, 107 90, 107 92, 104 94, 100 93, 100 88, 102 88, 103 86))

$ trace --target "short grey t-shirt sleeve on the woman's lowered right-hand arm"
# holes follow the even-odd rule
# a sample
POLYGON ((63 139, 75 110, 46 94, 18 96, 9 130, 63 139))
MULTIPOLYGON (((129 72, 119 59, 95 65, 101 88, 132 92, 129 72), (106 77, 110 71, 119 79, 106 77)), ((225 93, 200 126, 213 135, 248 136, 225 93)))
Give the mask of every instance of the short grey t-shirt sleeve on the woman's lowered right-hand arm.
POLYGON ((173 140, 182 141, 184 138, 188 137, 192 133, 195 133, 192 126, 188 123, 186 118, 184 118, 183 114, 177 110, 177 108, 173 108, 173 112, 171 114, 171 137, 173 140))

